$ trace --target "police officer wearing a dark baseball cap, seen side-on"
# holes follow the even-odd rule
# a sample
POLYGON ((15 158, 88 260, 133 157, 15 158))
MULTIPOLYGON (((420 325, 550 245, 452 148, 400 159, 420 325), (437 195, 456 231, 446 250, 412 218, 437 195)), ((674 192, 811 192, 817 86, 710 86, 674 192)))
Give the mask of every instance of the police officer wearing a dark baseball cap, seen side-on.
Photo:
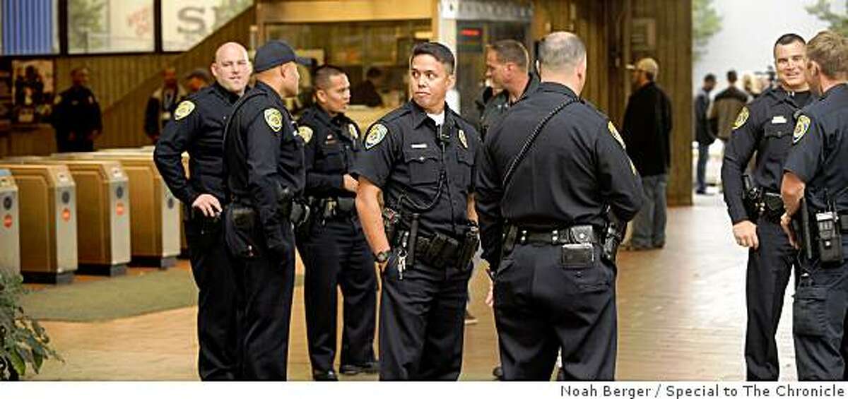
POLYGON ((256 86, 233 106, 224 136, 225 241, 237 279, 245 380, 286 380, 294 233, 304 188, 303 141, 282 97, 298 94, 306 64, 286 42, 259 47, 256 86))

